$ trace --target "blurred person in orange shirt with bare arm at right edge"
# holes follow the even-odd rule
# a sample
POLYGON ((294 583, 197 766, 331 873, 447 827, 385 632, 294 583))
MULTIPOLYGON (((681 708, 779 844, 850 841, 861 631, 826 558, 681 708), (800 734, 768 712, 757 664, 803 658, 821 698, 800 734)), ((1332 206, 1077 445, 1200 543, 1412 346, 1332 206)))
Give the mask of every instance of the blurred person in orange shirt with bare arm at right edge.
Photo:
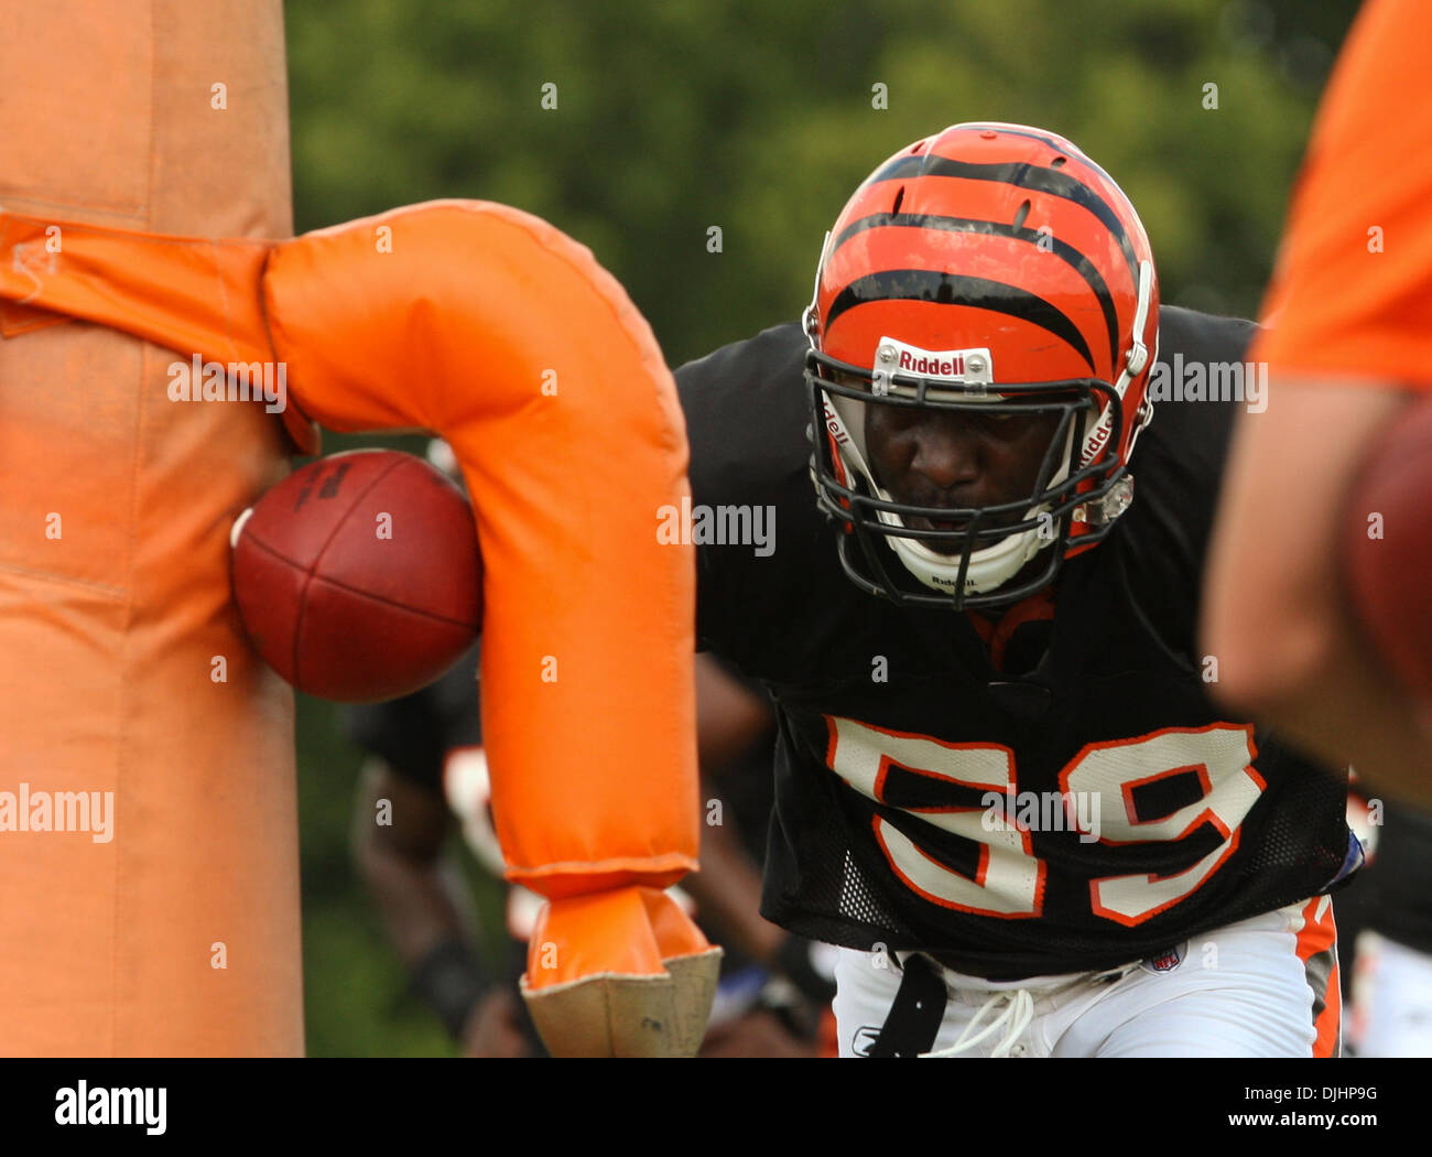
POLYGON ((1339 586, 1339 511, 1432 389, 1432 6, 1370 0, 1325 95, 1250 357, 1204 587, 1214 693, 1385 790, 1432 802, 1432 727, 1368 653, 1339 586))

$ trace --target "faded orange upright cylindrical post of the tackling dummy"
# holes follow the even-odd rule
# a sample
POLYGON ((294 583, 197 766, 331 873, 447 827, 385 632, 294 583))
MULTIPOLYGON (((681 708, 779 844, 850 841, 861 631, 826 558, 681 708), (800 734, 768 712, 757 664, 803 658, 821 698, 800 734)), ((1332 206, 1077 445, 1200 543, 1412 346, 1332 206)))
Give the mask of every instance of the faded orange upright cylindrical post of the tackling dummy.
MULTIPOLYGON (((292 232, 279 0, 6 4, 0 92, 6 210, 292 232)), ((7 337, 50 321, 26 296, 7 337)), ((292 694, 228 563, 289 447, 262 407, 170 402, 175 359, 73 321, 0 342, 3 1054, 304 1048, 292 694)))

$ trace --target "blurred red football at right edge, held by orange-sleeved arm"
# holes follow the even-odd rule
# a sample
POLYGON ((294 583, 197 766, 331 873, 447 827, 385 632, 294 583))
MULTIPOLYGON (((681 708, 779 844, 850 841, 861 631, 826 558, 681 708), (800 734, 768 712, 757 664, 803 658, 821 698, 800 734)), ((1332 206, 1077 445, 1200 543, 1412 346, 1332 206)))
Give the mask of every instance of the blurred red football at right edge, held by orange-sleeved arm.
POLYGON ((1432 400, 1392 421, 1349 493, 1348 593, 1383 664, 1432 703, 1432 400))

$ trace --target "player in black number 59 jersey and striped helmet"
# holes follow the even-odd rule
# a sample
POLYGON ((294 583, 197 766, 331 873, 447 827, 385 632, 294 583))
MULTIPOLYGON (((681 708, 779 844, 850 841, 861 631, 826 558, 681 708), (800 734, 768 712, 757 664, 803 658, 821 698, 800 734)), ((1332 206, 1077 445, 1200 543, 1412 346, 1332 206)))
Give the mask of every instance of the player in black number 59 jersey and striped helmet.
POLYGON ((958 125, 856 189, 803 325, 677 372, 699 642, 778 705, 762 911, 841 945, 842 1055, 1336 1051, 1345 778, 1194 642, 1252 331, 1160 309, 1068 140, 958 125))

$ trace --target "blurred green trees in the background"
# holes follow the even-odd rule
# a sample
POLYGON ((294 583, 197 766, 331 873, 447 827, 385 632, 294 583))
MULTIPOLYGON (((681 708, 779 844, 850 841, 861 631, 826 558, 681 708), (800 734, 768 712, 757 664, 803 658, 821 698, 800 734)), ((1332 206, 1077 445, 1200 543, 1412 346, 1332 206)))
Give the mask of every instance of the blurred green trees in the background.
MULTIPOLYGON (((1164 301, 1253 315, 1355 11, 1356 0, 289 0, 296 228, 432 198, 514 205, 589 245, 677 365, 796 316, 825 229, 879 160, 945 125, 1011 120, 1068 136, 1114 175, 1164 301)), ((359 762, 335 709, 301 700, 308 1048, 451 1055, 348 861, 359 762)), ((500 889, 474 885, 495 942, 500 889)))

